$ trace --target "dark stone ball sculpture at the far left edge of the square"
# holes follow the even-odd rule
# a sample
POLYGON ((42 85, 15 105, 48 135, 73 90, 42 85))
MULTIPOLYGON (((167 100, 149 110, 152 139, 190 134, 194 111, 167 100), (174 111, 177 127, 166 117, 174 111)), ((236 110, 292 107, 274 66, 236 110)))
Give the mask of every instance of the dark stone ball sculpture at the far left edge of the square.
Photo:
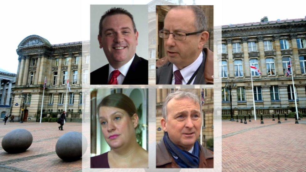
POLYGON ((2 148, 10 153, 17 154, 26 151, 32 144, 32 134, 25 129, 15 129, 2 139, 2 148))

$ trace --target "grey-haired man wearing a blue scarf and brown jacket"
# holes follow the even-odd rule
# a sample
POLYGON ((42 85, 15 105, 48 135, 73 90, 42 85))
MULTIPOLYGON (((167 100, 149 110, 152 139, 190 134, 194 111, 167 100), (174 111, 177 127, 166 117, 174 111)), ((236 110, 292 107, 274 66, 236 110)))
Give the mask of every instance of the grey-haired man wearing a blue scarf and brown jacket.
POLYGON ((162 107, 164 137, 156 145, 156 168, 214 168, 213 152, 198 142, 202 126, 198 96, 176 91, 162 107))

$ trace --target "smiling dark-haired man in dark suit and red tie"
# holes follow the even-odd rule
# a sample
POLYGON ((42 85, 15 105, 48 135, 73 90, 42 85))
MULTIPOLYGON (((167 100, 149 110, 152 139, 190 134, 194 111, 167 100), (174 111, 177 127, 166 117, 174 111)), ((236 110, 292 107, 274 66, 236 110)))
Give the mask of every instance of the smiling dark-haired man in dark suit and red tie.
POLYGON ((106 11, 98 41, 109 64, 90 73, 91 85, 148 84, 148 60, 136 55, 138 31, 131 13, 123 8, 106 11))

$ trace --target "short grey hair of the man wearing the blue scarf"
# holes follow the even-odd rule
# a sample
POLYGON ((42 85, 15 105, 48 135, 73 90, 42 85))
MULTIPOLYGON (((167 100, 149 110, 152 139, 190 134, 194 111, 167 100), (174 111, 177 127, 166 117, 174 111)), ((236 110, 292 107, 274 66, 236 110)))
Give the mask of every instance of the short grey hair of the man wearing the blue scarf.
POLYGON ((192 92, 188 92, 188 91, 176 91, 174 93, 170 93, 168 94, 168 96, 166 97, 166 100, 162 106, 162 116, 164 119, 167 120, 167 105, 168 103, 170 102, 171 99, 182 99, 182 98, 190 98, 191 100, 193 100, 195 103, 198 103, 201 107, 201 104, 200 104, 200 101, 199 101, 199 98, 197 95, 195 95, 194 93, 192 92))

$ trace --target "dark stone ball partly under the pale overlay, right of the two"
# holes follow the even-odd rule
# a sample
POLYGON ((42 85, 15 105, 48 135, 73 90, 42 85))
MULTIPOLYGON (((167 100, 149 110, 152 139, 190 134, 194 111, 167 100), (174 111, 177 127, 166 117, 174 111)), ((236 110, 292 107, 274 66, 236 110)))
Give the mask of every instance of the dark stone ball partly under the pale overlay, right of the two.
POLYGON ((57 156, 64 161, 76 161, 80 159, 86 152, 86 149, 87 139, 82 133, 74 131, 62 135, 55 145, 57 156))

